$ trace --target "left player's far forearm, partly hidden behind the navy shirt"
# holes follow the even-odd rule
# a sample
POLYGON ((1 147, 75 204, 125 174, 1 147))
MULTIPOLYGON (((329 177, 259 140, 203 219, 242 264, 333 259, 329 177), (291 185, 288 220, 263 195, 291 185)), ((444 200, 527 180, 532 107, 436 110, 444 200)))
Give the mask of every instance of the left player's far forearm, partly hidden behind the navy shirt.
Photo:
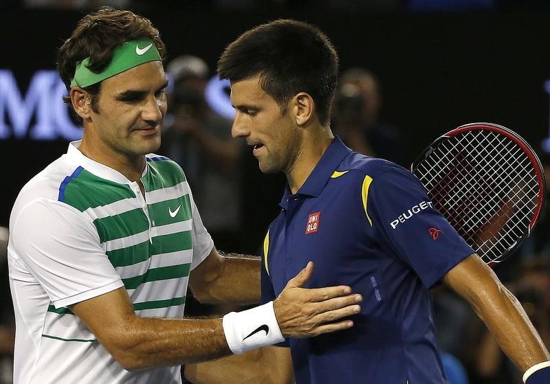
MULTIPOLYGON (((198 300, 209 304, 256 304, 260 301, 260 265, 257 256, 224 253, 219 273, 201 284, 198 300)), ((195 291, 193 291, 195 293, 195 291)))

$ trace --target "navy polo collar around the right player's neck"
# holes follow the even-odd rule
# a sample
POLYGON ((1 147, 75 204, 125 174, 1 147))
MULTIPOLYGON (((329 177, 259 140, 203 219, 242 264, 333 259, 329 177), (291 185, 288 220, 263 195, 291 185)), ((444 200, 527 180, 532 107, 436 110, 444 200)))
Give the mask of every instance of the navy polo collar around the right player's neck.
MULTIPOLYGON (((342 143, 340 137, 334 137, 327 150, 325 150, 325 153, 322 154, 314 170, 309 174, 304 185, 302 185, 296 194, 311 197, 319 196, 322 189, 325 188, 325 185, 329 182, 333 172, 350 153, 351 149, 342 143)), ((292 196, 292 192, 290 192, 290 188, 287 184, 283 199, 279 205, 286 209, 287 201, 290 196, 292 196)))

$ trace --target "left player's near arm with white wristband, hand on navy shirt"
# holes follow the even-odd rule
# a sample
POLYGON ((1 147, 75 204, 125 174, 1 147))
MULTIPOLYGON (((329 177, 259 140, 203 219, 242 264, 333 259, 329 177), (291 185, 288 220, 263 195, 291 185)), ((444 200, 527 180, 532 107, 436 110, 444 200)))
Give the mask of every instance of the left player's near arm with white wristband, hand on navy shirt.
MULTIPOLYGON (((215 250, 204 262, 218 265, 215 250)), ((292 321, 300 325, 287 332, 292 337, 316 336, 351 327, 351 321, 338 320, 358 313, 354 303, 361 297, 350 295, 347 286, 303 289, 313 271, 312 263, 308 267, 291 279, 279 295, 279 323, 272 302, 230 313, 223 319, 142 318, 135 315, 124 287, 73 304, 69 309, 126 370, 206 361, 231 351, 243 353, 281 343, 284 340, 281 329, 292 321)), ((208 265, 203 268, 208 269, 208 265)))

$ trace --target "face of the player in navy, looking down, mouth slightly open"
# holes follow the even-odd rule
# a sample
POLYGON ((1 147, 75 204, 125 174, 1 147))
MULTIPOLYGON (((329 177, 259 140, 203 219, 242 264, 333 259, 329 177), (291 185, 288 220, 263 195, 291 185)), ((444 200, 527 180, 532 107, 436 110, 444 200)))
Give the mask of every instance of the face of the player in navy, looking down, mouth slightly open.
POLYGON ((292 111, 263 91, 259 78, 231 83, 231 103, 236 109, 233 137, 243 137, 264 173, 289 173, 294 167, 301 137, 292 111))

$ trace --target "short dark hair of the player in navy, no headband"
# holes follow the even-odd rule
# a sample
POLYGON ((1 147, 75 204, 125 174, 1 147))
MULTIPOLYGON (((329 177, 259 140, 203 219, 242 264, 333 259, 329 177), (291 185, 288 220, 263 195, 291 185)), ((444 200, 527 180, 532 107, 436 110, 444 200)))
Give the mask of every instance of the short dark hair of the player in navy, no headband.
POLYGON ((218 60, 220 78, 230 81, 260 76, 261 87, 282 111, 298 92, 311 95, 319 122, 329 122, 338 82, 338 54, 318 27, 296 20, 276 20, 243 33, 218 60))

